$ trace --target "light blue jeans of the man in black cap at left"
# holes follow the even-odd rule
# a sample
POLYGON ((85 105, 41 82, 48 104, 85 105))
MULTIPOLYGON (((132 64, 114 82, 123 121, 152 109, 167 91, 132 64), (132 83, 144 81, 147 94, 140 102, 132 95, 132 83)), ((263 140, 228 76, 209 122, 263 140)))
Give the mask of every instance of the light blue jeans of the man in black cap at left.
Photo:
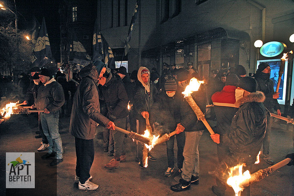
POLYGON ((49 114, 42 112, 40 118, 43 132, 49 143, 48 153, 56 152, 56 158, 62 159, 62 141, 58 132, 59 111, 49 114))

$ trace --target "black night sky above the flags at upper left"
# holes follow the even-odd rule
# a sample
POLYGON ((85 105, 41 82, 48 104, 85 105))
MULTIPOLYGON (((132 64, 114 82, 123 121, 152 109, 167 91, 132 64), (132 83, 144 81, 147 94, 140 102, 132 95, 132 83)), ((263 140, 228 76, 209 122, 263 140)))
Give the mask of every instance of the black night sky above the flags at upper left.
MULTIPOLYGON (((43 17, 47 26, 49 42, 52 50, 53 58, 56 62, 60 62, 60 16, 58 13, 60 0, 15 0, 19 14, 19 28, 29 29, 32 26, 33 16, 42 23, 43 17), (25 18, 25 20, 24 20, 25 18)), ((11 10, 15 10, 13 0, 4 0, 5 4, 9 4, 11 10), (6 3, 7 2, 7 3, 6 3)))

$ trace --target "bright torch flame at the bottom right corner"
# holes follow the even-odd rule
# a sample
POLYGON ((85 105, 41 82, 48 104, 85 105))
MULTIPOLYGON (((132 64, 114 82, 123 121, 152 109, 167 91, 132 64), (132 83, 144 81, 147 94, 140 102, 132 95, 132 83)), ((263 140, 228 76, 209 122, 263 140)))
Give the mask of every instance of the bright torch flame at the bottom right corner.
POLYGON ((234 189, 236 196, 238 196, 238 193, 240 191, 243 191, 243 188, 241 188, 239 185, 244 180, 251 178, 248 170, 242 173, 242 168, 243 168, 243 165, 235 166, 233 169, 231 169, 230 177, 227 179, 227 184, 234 189), (239 171, 239 174, 233 175, 235 172, 237 172, 237 169, 239 171))

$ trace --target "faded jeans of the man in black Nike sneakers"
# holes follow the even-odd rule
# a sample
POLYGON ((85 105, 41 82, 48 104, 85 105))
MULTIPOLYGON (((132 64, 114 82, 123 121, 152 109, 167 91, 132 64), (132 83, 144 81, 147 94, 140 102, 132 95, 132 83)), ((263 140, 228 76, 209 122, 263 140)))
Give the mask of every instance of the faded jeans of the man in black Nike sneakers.
POLYGON ((199 151, 198 144, 204 130, 185 131, 186 141, 184 147, 184 162, 182 178, 187 182, 191 181, 192 175, 199 176, 199 151))

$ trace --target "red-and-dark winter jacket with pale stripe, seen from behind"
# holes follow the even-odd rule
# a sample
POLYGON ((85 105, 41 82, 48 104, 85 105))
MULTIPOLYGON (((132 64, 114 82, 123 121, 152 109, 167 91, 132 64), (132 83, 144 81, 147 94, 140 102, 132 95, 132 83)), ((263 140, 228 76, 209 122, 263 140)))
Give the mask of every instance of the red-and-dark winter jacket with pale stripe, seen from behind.
POLYGON ((216 133, 222 135, 230 131, 232 119, 238 110, 236 106, 235 90, 236 86, 224 86, 221 92, 216 92, 211 99, 217 117, 216 133))

